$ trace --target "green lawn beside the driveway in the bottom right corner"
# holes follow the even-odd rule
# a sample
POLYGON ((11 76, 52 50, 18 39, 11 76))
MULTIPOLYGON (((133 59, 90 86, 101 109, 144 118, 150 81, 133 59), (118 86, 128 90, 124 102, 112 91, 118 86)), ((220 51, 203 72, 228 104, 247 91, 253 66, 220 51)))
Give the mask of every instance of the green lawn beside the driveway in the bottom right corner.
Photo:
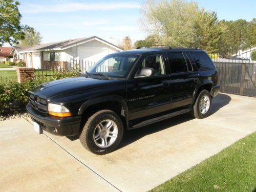
POLYGON ((256 132, 151 191, 256 191, 256 132))

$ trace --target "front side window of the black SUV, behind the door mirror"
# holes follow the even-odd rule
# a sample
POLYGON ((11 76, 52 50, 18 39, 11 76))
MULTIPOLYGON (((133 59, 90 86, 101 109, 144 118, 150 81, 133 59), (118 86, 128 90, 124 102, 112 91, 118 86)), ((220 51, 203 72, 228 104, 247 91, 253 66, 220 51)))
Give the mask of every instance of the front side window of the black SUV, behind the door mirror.
POLYGON ((154 70, 154 76, 164 75, 165 70, 162 55, 156 54, 145 57, 136 74, 139 74, 143 68, 152 68, 154 70))

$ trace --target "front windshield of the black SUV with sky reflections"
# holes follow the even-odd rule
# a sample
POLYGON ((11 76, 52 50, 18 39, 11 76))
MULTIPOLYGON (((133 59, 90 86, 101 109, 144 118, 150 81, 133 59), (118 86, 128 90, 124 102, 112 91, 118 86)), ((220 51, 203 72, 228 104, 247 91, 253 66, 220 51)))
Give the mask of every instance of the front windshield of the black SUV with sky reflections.
POLYGON ((109 55, 98 62, 88 71, 91 74, 103 74, 110 77, 124 78, 134 65, 138 55, 109 55))

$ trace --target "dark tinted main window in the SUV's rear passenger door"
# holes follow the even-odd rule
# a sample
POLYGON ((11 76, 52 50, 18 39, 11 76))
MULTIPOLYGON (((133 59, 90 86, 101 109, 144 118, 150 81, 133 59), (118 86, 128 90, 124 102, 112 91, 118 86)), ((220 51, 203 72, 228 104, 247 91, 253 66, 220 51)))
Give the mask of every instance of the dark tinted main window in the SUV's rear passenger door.
POLYGON ((181 52, 167 53, 170 71, 172 73, 187 72, 186 61, 181 52))

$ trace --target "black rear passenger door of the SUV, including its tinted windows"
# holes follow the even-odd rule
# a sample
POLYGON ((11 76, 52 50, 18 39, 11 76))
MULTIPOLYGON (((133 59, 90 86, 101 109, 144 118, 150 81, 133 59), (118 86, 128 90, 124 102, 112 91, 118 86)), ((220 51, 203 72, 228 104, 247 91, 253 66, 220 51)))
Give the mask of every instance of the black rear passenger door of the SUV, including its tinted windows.
POLYGON ((197 69, 193 68, 186 52, 167 52, 166 57, 170 68, 172 109, 191 104, 194 91, 200 83, 197 69))

